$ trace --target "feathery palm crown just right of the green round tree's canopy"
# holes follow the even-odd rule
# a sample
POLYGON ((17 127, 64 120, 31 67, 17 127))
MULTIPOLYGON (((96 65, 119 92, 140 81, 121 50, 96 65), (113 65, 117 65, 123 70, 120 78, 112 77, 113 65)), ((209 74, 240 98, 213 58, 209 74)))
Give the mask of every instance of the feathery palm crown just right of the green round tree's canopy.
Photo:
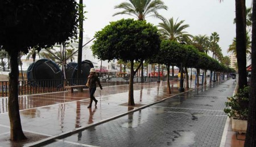
POLYGON ((163 22, 159 23, 159 32, 162 34, 163 38, 181 42, 188 40, 189 37, 193 37, 188 32, 184 31, 189 27, 189 24, 184 24, 185 20, 181 20, 180 22, 177 22, 177 20, 178 19, 174 22, 174 18, 170 18, 169 20, 163 19, 163 22))

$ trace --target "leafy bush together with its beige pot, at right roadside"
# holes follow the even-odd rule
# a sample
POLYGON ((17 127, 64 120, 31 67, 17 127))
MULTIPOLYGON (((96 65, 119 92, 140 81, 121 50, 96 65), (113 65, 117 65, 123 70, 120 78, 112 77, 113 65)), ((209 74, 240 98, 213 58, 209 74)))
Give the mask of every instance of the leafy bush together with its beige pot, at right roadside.
POLYGON ((250 86, 244 87, 234 96, 228 97, 224 112, 232 119, 234 132, 246 133, 250 86))

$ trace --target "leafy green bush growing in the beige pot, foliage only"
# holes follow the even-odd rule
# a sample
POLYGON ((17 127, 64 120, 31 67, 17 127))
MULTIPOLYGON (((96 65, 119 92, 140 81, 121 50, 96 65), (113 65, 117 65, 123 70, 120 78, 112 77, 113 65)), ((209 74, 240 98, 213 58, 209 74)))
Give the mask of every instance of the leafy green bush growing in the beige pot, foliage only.
POLYGON ((238 119, 247 120, 249 106, 249 89, 250 86, 244 87, 234 96, 228 97, 228 102, 225 102, 226 107, 224 112, 229 117, 238 117, 238 119))

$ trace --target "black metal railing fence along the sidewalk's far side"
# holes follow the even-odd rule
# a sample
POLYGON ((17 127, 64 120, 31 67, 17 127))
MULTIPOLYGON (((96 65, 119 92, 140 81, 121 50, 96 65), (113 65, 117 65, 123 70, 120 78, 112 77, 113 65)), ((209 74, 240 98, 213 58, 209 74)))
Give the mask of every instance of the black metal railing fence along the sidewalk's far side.
MULTIPOLYGON (((166 77, 161 77, 166 81, 166 77)), ((141 77, 134 77, 134 83, 141 83, 141 77)), ((143 81, 156 82, 158 77, 144 77, 143 81)), ((53 93, 65 91, 65 85, 85 85, 87 79, 55 79, 55 80, 36 80, 36 81, 18 81, 19 95, 53 93)), ((102 87, 129 85, 129 77, 100 77, 102 87)), ((0 81, 0 97, 9 96, 9 82, 0 81)))

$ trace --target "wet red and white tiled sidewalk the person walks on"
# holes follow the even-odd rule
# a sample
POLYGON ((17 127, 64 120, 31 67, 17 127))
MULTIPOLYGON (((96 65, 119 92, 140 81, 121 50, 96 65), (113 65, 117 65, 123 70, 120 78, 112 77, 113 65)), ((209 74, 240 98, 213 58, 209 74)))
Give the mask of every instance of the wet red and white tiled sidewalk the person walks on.
MULTIPOLYGON (((195 87, 191 82, 192 88, 195 87)), ((134 85, 135 107, 128 107, 128 85, 104 87, 97 89, 96 98, 100 100, 96 106, 88 109, 88 90, 75 93, 48 93, 40 95, 20 96, 20 117, 27 141, 15 144, 9 141, 9 116, 7 98, 0 98, 0 146, 22 146, 43 140, 50 136, 63 135, 79 128, 90 127, 106 120, 125 115, 133 108, 147 106, 179 94, 178 81, 171 81, 172 94, 167 94, 166 82, 143 83, 134 85)), ((230 133, 228 133, 228 136, 230 133)), ((227 138, 226 146, 229 140, 227 138)))

